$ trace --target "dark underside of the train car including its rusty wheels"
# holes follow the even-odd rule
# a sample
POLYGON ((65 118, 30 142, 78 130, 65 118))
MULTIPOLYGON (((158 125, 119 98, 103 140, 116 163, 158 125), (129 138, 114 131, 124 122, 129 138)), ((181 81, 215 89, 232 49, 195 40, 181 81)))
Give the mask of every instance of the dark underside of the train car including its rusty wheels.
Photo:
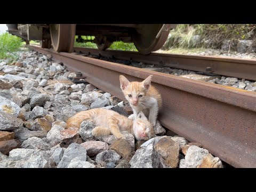
POLYGON ((111 43, 123 41, 134 43, 141 54, 160 49, 171 29, 177 24, 7 24, 10 34, 26 41, 41 41, 41 46, 58 52, 71 52, 76 41, 84 42, 84 36, 95 36, 100 50, 106 50, 111 43))

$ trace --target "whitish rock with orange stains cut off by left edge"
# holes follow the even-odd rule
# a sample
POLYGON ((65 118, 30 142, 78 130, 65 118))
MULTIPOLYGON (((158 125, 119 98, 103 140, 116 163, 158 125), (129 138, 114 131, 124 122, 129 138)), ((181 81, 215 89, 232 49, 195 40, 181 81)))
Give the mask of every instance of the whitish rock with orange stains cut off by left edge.
POLYGON ((20 113, 20 107, 11 100, 0 96, 0 111, 17 117, 20 113))

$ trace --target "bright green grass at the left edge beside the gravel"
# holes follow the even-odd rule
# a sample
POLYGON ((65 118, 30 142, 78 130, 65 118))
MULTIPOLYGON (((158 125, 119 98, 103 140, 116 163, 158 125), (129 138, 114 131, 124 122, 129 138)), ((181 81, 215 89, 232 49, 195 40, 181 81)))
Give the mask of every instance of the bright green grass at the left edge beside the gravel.
POLYGON ((0 35, 0 60, 13 62, 18 59, 17 51, 22 46, 22 39, 9 33, 0 35))

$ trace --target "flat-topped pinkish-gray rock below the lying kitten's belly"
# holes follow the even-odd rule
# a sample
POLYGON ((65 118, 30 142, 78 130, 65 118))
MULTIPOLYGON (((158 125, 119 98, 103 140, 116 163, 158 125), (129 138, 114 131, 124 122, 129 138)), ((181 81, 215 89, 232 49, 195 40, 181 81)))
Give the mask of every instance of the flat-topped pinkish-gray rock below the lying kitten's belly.
POLYGON ((82 143, 81 146, 83 146, 86 149, 87 155, 89 157, 93 157, 99 154, 100 152, 109 149, 108 144, 102 141, 86 141, 82 143))

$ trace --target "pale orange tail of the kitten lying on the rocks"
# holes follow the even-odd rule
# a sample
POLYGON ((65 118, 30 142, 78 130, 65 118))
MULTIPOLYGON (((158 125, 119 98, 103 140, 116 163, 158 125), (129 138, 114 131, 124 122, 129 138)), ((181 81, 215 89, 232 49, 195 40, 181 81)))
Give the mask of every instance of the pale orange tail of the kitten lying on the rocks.
POLYGON ((77 114, 75 114, 72 117, 69 117, 67 121, 67 128, 69 127, 77 127, 79 128, 81 123, 86 119, 91 119, 92 114, 90 111, 81 111, 77 114))

